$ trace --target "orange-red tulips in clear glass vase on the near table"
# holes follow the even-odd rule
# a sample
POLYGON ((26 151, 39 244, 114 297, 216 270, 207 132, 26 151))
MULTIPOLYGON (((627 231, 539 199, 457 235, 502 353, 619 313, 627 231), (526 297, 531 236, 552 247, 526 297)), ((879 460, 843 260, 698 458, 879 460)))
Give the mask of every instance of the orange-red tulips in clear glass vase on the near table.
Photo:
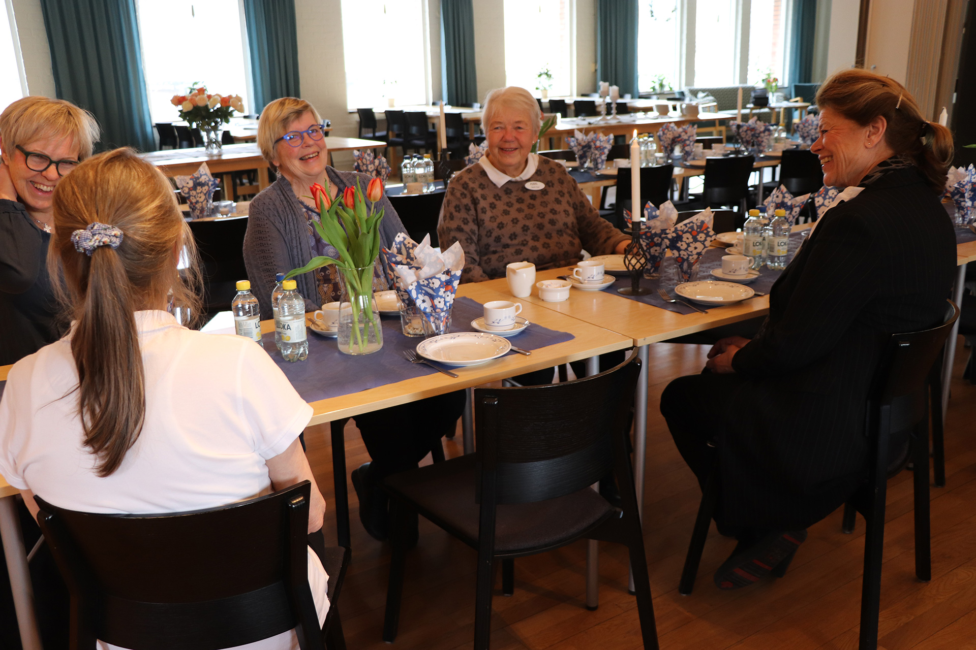
MULTIPOLYGON (((326 180, 328 186, 328 179, 326 180)), ((373 308, 373 275, 380 255, 380 222, 383 209, 377 202, 383 198, 383 181, 373 178, 363 194, 356 186, 346 187, 342 196, 329 198, 327 187, 315 183, 311 200, 318 208, 319 221, 312 226, 324 242, 339 251, 339 259, 321 255, 312 257, 305 266, 289 271, 285 280, 300 276, 328 264, 335 264, 343 286, 339 310, 339 351, 347 355, 368 355, 383 347, 380 313, 373 308), (372 206, 367 211, 366 201, 372 206)))

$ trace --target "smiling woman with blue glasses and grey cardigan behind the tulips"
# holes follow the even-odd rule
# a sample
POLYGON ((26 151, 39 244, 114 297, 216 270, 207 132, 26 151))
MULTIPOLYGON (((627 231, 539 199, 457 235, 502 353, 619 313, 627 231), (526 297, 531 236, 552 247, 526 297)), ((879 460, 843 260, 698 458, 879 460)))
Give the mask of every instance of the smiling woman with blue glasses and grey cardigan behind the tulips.
MULTIPOLYGON (((370 181, 365 173, 340 172, 329 166, 328 140, 322 118, 304 99, 283 97, 264 107, 258 123, 258 145, 264 159, 278 172, 278 179, 251 202, 247 234, 244 236, 244 264, 254 294, 261 303, 263 319, 271 318, 271 290, 274 275, 305 266, 316 255, 339 257, 331 244, 319 237, 312 221, 319 219, 313 208, 314 183, 328 188, 330 200, 341 199, 346 187, 359 181, 363 191, 370 181)), ((396 210, 386 199, 378 202, 384 210, 380 239, 389 248, 397 233, 406 232, 396 210)), ((373 287, 386 289, 386 274, 376 261, 373 287)), ((339 300, 342 287, 333 265, 296 278, 305 297, 305 309, 339 300)), ((378 540, 388 534, 388 511, 383 479, 397 472, 416 468, 431 447, 454 431, 465 407, 464 391, 413 401, 353 419, 362 434, 372 462, 352 472, 352 485, 359 497, 359 520, 378 540)), ((415 517, 416 520, 416 517, 415 517)), ((416 531, 416 528, 415 528, 416 531)))

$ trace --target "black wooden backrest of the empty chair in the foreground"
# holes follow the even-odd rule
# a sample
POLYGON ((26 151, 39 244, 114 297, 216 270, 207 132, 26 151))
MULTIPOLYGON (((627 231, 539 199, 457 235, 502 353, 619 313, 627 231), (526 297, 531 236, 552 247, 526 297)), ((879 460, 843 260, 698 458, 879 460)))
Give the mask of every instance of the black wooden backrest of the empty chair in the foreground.
POLYGON ((575 381, 475 389, 479 500, 543 501, 607 476, 615 451, 627 456, 639 373, 633 352, 626 362, 575 381), (483 494, 486 473, 495 478, 494 499, 483 494))

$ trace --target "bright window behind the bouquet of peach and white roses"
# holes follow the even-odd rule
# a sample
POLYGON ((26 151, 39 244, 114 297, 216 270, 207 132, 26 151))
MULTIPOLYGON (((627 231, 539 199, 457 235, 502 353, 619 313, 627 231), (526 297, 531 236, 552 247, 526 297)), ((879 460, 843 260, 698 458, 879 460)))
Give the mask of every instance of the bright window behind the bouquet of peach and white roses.
MULTIPOLYGON (((209 93, 247 96, 239 0, 138 2, 142 71, 153 122, 179 121, 170 99, 194 84, 209 93)), ((246 101, 245 108, 257 112, 246 101)))

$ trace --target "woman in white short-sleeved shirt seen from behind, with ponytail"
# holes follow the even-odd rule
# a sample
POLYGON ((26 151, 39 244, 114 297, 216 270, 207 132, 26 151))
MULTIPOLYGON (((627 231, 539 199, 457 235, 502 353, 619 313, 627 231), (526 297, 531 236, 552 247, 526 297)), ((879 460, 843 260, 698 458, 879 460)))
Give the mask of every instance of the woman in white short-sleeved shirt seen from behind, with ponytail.
MULTIPOLYGON (((132 149, 61 179, 49 264, 73 324, 11 368, 0 474, 34 516, 34 494, 89 513, 172 513, 308 479, 308 532, 319 531, 325 500, 298 440, 311 407, 253 341, 193 331, 167 313, 171 299, 196 305, 177 271, 184 246, 195 261, 169 182, 132 149)), ((324 621, 328 576, 310 549, 308 580, 324 621)))

